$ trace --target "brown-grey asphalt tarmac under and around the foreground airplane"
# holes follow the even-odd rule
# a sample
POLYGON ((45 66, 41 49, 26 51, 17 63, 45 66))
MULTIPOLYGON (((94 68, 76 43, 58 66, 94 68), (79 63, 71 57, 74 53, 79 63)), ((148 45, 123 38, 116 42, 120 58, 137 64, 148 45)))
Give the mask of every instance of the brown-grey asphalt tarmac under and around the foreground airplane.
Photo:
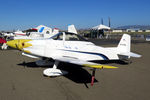
MULTIPOLYGON (((117 46, 117 42, 102 46, 117 46)), ((59 68, 66 76, 44 77, 34 61, 17 50, 0 50, 0 100, 150 100, 150 43, 135 42, 132 51, 142 55, 130 63, 110 62, 118 69, 96 70, 94 86, 91 69, 67 63, 59 68)), ((104 62, 105 63, 105 62, 104 62)))

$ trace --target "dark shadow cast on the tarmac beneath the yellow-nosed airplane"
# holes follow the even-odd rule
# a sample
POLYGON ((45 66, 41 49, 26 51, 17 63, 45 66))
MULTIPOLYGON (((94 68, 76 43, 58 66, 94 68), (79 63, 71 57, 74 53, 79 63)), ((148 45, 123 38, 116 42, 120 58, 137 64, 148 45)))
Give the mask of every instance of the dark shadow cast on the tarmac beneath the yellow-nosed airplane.
MULTIPOLYGON (((112 63, 117 63, 117 64, 122 64, 122 65, 127 65, 129 64, 128 62, 121 61, 121 60, 112 60, 112 61, 94 61, 95 63, 100 63, 100 64, 112 64, 112 63)), ((23 67, 30 67, 30 68, 52 68, 53 66, 37 66, 35 62, 22 62, 18 64, 19 66, 23 67)), ((58 69, 65 70, 69 72, 67 75, 64 75, 64 77, 72 80, 75 83, 79 84, 84 84, 87 88, 87 84, 91 83, 91 77, 92 75, 83 68, 83 66, 75 65, 75 64, 69 64, 69 63, 63 63, 60 62, 58 69)), ((91 70, 90 70, 91 71, 91 70)), ((92 73, 92 71, 91 71, 92 73)), ((98 82, 98 80, 94 80, 94 83, 98 82)))

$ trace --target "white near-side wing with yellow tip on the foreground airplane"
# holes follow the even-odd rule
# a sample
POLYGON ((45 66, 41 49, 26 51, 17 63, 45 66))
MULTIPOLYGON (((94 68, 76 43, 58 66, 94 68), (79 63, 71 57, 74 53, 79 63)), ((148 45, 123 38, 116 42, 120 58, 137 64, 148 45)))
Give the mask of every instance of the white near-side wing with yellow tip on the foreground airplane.
POLYGON ((82 65, 84 67, 91 67, 91 68, 98 68, 98 69, 118 68, 118 67, 114 67, 114 66, 101 65, 101 64, 97 64, 97 63, 93 63, 93 62, 82 61, 82 60, 75 59, 75 58, 70 58, 70 57, 53 57, 53 59, 57 60, 57 61, 61 61, 61 62, 67 62, 67 63, 77 64, 77 65, 82 65))

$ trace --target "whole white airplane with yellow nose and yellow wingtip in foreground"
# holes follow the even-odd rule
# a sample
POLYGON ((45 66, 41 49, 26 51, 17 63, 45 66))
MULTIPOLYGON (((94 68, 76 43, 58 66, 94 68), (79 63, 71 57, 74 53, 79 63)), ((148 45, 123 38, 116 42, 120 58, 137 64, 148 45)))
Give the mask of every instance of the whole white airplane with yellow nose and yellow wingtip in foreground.
MULTIPOLYGON (((69 32, 60 32, 49 39, 12 40, 7 45, 22 50, 24 55, 32 58, 46 58, 53 63, 53 68, 43 71, 46 76, 60 76, 67 71, 57 69, 59 62, 93 68, 91 85, 94 83, 95 69, 117 68, 94 63, 97 60, 123 60, 141 55, 130 52, 131 37, 124 34, 117 47, 100 47, 88 42, 83 37, 69 32)), ((38 62, 36 64, 41 64, 38 62)))

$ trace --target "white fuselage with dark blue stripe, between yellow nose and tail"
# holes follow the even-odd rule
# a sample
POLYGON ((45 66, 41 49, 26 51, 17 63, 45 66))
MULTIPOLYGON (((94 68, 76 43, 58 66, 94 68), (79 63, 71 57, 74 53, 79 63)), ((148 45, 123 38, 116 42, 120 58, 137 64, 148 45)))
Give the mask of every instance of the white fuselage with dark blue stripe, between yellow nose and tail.
POLYGON ((54 57, 61 56, 67 58, 80 59, 84 61, 92 60, 117 60, 116 51, 104 47, 96 46, 86 41, 63 41, 63 40, 32 40, 32 46, 24 48, 24 51, 31 54, 54 57))

